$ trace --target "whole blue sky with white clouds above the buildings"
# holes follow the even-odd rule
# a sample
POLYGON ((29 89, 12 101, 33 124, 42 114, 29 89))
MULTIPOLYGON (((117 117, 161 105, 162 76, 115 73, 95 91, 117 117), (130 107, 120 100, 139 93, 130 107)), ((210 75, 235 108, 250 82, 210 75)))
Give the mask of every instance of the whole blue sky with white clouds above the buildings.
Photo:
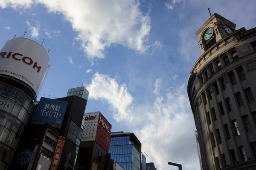
POLYGON ((51 67, 38 100, 83 84, 86 112, 102 112, 112 132, 134 132, 146 162, 199 170, 187 82, 208 8, 236 29, 256 26, 255 0, 0 0, 0 46, 25 30, 45 39, 51 67))

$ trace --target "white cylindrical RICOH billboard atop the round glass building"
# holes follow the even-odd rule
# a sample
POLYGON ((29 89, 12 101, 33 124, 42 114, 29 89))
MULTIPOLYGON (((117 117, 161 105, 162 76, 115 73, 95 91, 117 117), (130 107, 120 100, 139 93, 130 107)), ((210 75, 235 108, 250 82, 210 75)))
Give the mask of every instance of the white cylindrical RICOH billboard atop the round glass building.
POLYGON ((0 74, 30 86, 38 95, 48 69, 49 55, 40 44, 27 38, 7 41, 0 50, 0 74))

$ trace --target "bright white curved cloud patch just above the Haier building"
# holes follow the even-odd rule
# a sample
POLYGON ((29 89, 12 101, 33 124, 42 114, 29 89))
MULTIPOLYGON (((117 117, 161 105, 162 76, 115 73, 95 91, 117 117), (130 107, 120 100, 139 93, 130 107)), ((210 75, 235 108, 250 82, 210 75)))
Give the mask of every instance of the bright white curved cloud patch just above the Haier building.
POLYGON ((111 78, 109 75, 95 73, 91 83, 86 86, 90 92, 89 98, 106 101, 110 105, 116 121, 131 122, 134 116, 131 115, 129 106, 133 97, 128 92, 126 85, 119 85, 116 79, 117 77, 111 78))

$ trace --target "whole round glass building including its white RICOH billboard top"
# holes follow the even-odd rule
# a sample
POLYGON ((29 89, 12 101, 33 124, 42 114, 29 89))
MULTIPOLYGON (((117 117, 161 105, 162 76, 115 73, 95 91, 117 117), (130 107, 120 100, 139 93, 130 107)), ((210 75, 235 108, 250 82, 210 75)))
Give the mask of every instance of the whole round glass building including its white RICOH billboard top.
POLYGON ((0 50, 0 169, 12 162, 49 69, 49 55, 26 38, 8 40, 0 50))

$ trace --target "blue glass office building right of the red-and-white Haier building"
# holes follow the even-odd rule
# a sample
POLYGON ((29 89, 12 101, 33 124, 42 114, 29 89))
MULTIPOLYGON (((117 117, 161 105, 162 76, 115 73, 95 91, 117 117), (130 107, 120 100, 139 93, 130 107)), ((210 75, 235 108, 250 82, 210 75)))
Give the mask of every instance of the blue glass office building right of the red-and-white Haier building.
POLYGON ((112 132, 109 153, 125 170, 141 169, 141 143, 134 133, 112 132))

